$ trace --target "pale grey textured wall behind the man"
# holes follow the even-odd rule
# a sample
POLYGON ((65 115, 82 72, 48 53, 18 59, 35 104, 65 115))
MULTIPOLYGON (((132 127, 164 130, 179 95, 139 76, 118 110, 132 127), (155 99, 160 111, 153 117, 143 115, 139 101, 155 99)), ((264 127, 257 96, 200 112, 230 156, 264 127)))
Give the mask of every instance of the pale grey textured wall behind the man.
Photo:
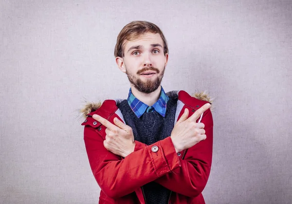
POLYGON ((217 97, 206 203, 291 204, 291 0, 1 0, 0 203, 98 203, 76 110, 127 97, 132 20, 164 31, 165 91, 217 97))

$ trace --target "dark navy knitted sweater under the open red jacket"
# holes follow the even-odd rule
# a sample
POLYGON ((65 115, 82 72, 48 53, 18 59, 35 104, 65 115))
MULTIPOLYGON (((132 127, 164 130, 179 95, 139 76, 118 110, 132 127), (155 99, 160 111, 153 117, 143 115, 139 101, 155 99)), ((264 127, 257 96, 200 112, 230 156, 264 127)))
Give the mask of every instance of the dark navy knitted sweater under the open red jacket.
MULTIPOLYGON (((127 100, 119 105, 125 122, 133 130, 135 140, 146 145, 151 145, 170 136, 174 126, 177 98, 169 97, 166 105, 165 117, 155 110, 145 112, 140 118, 131 110, 127 100)), ((167 204, 170 190, 156 182, 150 182, 142 186, 147 204, 167 204)))

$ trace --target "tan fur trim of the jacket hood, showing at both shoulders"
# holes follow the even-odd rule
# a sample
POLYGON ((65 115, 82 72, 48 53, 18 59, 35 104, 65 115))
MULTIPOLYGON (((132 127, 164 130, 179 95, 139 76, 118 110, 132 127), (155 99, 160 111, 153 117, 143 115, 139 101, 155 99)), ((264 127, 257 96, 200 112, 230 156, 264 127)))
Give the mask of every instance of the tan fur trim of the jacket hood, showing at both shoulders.
MULTIPOLYGON (((194 98, 197 98, 199 100, 202 100, 202 101, 208 101, 209 103, 212 104, 213 102, 213 98, 210 98, 210 96, 206 93, 206 92, 198 92, 198 93, 194 93, 192 94, 192 96, 194 98)), ((94 102, 85 102, 85 106, 83 107, 83 109, 80 109, 79 112, 81 113, 81 115, 83 117, 87 117, 86 115, 91 113, 92 111, 96 111, 99 107, 101 107, 102 105, 102 102, 97 102, 97 103, 94 103, 94 102)), ((213 109, 213 105, 211 105, 211 110, 213 109)))

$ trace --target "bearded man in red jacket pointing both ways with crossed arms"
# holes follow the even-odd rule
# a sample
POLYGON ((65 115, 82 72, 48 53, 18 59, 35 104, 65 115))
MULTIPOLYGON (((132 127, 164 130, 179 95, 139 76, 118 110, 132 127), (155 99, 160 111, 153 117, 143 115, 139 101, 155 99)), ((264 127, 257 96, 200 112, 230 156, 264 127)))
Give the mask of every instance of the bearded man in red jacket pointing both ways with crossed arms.
POLYGON ((204 204, 211 169, 210 104, 184 91, 165 93, 162 31, 133 21, 117 37, 115 59, 127 74, 127 100, 89 104, 84 141, 100 204, 204 204))

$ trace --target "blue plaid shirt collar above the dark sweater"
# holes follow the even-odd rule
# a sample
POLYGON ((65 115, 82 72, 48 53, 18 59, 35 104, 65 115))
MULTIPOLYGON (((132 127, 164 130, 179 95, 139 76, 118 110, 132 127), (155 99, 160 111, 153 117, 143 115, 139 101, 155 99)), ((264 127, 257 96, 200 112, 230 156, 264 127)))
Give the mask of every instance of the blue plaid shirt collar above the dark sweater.
POLYGON ((132 89, 130 88, 129 95, 128 95, 128 104, 138 118, 140 118, 141 115, 143 115, 145 111, 152 112, 154 110, 164 117, 168 99, 169 99, 168 95, 166 95, 163 88, 161 87, 161 93, 160 93, 159 99, 153 104, 153 106, 149 107, 148 105, 140 101, 138 98, 136 98, 132 93, 132 89))

